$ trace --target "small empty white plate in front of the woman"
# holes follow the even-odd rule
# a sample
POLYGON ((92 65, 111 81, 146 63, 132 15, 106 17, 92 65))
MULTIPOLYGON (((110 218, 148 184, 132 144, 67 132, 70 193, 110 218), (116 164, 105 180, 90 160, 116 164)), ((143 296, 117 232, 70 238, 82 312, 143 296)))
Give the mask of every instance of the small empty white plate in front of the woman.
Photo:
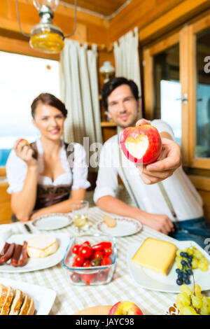
POLYGON ((67 214, 48 214, 37 217, 32 224, 38 230, 58 230, 72 223, 73 219, 67 214))

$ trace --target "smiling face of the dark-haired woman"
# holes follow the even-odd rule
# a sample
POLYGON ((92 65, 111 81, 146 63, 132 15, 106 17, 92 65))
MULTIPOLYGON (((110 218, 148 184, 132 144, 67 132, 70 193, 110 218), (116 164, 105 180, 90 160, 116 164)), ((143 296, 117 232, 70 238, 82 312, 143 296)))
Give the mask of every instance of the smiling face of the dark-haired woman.
POLYGON ((36 106, 33 123, 41 132, 42 137, 54 141, 60 139, 64 132, 64 121, 64 115, 54 106, 41 102, 36 106))

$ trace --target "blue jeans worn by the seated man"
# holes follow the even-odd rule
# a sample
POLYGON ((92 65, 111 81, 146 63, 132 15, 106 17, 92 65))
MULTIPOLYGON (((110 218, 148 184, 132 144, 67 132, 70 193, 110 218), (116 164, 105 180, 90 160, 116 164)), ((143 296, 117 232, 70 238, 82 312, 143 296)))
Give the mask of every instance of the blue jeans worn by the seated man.
POLYGON ((188 221, 180 221, 178 225, 175 223, 175 228, 175 232, 169 234, 170 237, 180 241, 195 241, 202 248, 207 246, 207 243, 205 244, 204 241, 205 239, 210 238, 210 230, 204 217, 189 219, 188 221))

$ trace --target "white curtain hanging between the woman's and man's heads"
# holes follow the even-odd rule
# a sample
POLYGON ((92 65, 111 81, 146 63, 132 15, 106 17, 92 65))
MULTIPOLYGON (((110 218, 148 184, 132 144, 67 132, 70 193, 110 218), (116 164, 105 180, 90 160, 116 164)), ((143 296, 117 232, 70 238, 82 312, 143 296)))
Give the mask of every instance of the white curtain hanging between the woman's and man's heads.
POLYGON ((68 110, 64 126, 64 141, 83 145, 89 137, 90 145, 102 143, 99 90, 97 78, 97 45, 65 40, 61 56, 62 101, 68 110))

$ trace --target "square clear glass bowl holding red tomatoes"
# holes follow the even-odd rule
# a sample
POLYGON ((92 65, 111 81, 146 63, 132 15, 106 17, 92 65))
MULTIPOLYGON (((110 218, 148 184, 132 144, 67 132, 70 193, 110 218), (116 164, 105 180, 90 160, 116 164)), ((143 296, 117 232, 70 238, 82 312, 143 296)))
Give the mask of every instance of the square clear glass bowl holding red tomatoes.
MULTIPOLYGON (((93 252, 94 253, 94 252, 93 252)), ((77 235, 71 237, 69 245, 66 248, 64 258, 62 260, 62 267, 66 270, 66 276, 70 283, 78 286, 97 286, 105 283, 109 283, 112 279, 113 272, 116 267, 116 257, 117 257, 117 248, 116 248, 116 239, 111 235, 77 235), (76 257, 76 254, 71 251, 72 247, 75 245, 80 246, 85 241, 90 242, 90 246, 94 244, 99 244, 103 241, 111 242, 112 253, 109 255, 111 260, 110 265, 97 265, 90 267, 73 266, 73 261, 76 257)), ((92 258, 90 258, 91 260, 92 258)))

